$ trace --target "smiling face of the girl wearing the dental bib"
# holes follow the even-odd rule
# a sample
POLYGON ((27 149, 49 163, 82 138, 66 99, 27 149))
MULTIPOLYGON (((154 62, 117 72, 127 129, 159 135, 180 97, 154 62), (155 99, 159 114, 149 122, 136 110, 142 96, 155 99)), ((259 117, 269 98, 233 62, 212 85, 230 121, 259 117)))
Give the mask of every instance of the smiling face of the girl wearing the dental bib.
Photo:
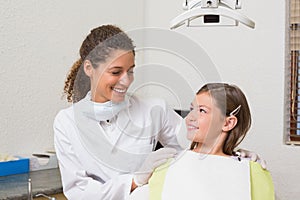
POLYGON ((222 133, 225 117, 208 92, 196 95, 186 117, 188 139, 206 146, 214 145, 222 133))

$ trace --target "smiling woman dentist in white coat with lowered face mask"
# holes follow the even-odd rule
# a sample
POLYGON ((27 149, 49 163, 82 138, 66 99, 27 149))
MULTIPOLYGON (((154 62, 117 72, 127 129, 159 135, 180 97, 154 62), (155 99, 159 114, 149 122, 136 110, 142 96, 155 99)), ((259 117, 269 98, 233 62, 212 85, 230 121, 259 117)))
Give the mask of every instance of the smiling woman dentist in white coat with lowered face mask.
POLYGON ((73 105, 54 120, 54 144, 68 199, 123 200, 181 150, 182 118, 159 99, 127 94, 132 40, 118 27, 93 29, 65 81, 73 105), (154 151, 157 141, 165 148, 154 151))

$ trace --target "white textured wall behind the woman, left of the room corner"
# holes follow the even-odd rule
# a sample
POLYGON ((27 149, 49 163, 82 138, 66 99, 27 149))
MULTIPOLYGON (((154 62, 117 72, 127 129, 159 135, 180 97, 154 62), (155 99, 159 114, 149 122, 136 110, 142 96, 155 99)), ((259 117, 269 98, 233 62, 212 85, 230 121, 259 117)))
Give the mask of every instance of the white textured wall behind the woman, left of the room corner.
POLYGON ((89 31, 142 26, 143 1, 4 0, 0 6, 0 154, 53 149, 64 80, 89 31))

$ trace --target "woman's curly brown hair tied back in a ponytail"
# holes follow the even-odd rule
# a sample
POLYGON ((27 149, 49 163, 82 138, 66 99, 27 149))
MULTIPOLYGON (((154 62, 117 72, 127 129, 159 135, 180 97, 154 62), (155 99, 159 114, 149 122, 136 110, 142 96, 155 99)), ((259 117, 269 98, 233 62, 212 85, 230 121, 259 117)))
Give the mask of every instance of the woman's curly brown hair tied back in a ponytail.
POLYGON ((73 64, 65 80, 64 93, 68 102, 80 101, 91 89, 90 79, 84 72, 83 62, 89 60, 93 68, 97 68, 114 50, 134 53, 133 41, 114 25, 103 25, 91 30, 80 47, 80 58, 73 64))

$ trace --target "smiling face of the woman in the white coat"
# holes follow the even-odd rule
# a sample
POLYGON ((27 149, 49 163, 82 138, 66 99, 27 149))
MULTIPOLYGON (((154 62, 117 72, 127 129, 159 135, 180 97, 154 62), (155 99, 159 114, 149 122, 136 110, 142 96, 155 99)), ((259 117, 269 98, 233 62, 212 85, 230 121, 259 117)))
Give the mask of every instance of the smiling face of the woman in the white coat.
POLYGON ((114 50, 105 63, 86 72, 91 79, 92 101, 104 103, 112 100, 121 102, 132 83, 134 69, 132 51, 114 50))

